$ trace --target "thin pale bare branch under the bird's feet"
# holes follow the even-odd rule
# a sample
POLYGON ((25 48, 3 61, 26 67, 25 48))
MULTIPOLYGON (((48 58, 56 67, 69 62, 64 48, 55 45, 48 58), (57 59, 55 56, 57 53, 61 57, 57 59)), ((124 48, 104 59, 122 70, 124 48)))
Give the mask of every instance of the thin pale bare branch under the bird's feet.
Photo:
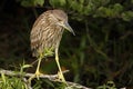
MULTIPOLYGON (((65 70, 63 71, 63 73, 66 73, 69 72, 69 70, 65 70)), ((31 77, 33 76, 34 73, 20 73, 20 72, 17 72, 17 71, 11 71, 11 70, 4 70, 4 69, 0 69, 0 73, 4 73, 7 76, 16 76, 16 77, 20 77, 20 76, 23 76, 23 77, 31 77)), ((57 78, 58 78, 58 75, 41 75, 40 78, 44 78, 44 79, 49 79, 51 81, 55 81, 57 78)), ((24 81, 27 82, 27 80, 24 79, 24 81)), ((76 89, 91 89, 91 88, 86 88, 82 85, 79 85, 79 83, 75 83, 75 82, 70 82, 70 81, 66 81, 68 82, 68 86, 72 88, 76 88, 76 89)), ((31 89, 31 88, 29 88, 31 89)))

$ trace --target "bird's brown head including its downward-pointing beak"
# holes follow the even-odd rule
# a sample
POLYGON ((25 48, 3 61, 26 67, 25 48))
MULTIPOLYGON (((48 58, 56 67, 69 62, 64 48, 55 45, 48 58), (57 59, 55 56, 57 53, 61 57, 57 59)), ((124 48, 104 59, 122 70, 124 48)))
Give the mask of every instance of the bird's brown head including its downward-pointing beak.
POLYGON ((75 36, 73 29, 68 23, 68 16, 64 11, 52 10, 52 17, 54 18, 54 20, 57 20, 55 22, 58 26, 63 27, 64 29, 69 30, 70 32, 72 32, 75 36))

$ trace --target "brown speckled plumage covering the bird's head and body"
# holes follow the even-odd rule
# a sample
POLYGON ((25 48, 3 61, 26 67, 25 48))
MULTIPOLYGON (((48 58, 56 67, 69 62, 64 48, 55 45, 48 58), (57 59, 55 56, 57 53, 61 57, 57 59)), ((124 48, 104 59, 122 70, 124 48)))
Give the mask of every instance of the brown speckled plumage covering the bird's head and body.
POLYGON ((31 30, 31 50, 33 56, 38 57, 44 49, 59 48, 63 33, 63 27, 57 22, 66 21, 68 16, 62 10, 49 10, 43 12, 34 22, 31 30))

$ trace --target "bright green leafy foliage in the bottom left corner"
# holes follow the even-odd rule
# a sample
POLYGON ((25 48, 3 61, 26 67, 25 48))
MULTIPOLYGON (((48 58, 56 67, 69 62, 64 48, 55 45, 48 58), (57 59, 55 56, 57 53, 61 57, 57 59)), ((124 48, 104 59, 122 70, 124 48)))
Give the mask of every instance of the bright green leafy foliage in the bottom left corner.
POLYGON ((27 83, 24 82, 23 70, 29 68, 29 65, 23 65, 20 69, 20 76, 18 77, 10 77, 1 73, 0 78, 0 88, 1 89, 29 89, 27 83))

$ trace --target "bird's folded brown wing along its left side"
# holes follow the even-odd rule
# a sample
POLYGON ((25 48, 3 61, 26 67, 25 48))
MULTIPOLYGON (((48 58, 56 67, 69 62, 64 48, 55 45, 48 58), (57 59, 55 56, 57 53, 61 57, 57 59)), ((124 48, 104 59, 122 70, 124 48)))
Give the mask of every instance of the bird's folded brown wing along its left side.
POLYGON ((31 40, 31 50, 33 51, 33 56, 38 56, 39 47, 41 44, 42 37, 42 26, 45 21, 45 16, 42 13, 34 22, 30 40, 31 40))

